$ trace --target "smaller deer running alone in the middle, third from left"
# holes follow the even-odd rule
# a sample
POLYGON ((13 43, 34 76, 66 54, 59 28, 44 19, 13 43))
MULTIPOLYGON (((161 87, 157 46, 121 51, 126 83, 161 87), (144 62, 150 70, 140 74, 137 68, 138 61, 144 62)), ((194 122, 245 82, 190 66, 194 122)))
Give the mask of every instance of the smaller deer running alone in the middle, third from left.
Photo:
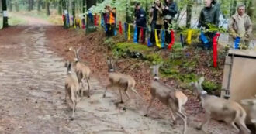
POLYGON ((140 94, 138 94, 138 92, 135 90, 136 81, 134 80, 134 78, 128 74, 121 74, 119 72, 116 72, 114 67, 114 61, 112 60, 112 58, 108 58, 107 64, 109 67, 110 84, 106 86, 106 89, 103 94, 103 98, 106 98, 107 89, 112 87, 119 88, 119 94, 121 97, 121 101, 119 103, 121 104, 123 104, 122 91, 124 91, 124 93, 126 94, 126 97, 128 98, 127 102, 130 101, 130 95, 128 94, 128 91, 133 91, 133 93, 137 94, 137 96, 140 97, 140 94))

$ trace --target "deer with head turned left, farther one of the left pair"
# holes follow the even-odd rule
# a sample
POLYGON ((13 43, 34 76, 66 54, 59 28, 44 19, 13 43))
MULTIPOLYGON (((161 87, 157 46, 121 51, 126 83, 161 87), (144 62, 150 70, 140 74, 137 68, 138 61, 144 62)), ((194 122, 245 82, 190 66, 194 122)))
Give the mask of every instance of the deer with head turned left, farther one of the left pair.
POLYGON ((84 96, 84 91, 85 91, 84 84, 86 80, 88 85, 88 98, 90 98, 89 80, 90 80, 91 70, 88 66, 86 66, 80 61, 79 50, 81 50, 81 47, 79 47, 77 50, 75 50, 73 47, 70 47, 69 50, 74 52, 74 70, 75 70, 75 74, 78 77, 78 83, 81 84, 82 86, 81 96, 84 96))

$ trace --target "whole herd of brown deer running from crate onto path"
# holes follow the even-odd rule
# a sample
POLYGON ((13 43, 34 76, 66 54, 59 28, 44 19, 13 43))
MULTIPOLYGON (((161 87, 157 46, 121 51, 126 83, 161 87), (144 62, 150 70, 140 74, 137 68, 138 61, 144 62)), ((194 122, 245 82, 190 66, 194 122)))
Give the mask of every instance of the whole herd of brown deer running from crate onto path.
MULTIPOLYGON (((88 66, 83 64, 79 58, 79 50, 75 50, 70 47, 70 51, 74 52, 74 62, 71 61, 66 62, 65 67, 67 67, 67 77, 65 81, 65 101, 67 101, 67 96, 70 98, 72 102, 72 117, 74 116, 74 111, 76 105, 79 101, 80 96, 83 96, 83 92, 85 91, 85 81, 88 84, 88 98, 90 97, 90 84, 89 79, 91 75, 91 70, 88 66), (71 73, 71 64, 74 67, 74 71, 77 77, 74 77, 71 73)), ((140 96, 137 91, 134 89, 136 81, 133 77, 126 74, 121 74, 115 71, 114 62, 112 59, 108 59, 108 67, 109 67, 109 81, 110 84, 106 86, 106 90, 104 91, 103 98, 106 97, 106 91, 111 87, 118 87, 121 101, 123 103, 122 92, 126 94, 128 101, 130 100, 130 96, 127 91, 133 91, 135 94, 140 96)), ((145 116, 149 111, 150 105, 157 98, 161 103, 166 105, 171 112, 171 118, 176 122, 175 116, 178 116, 184 122, 183 134, 186 133, 187 128, 187 116, 184 113, 184 105, 188 101, 188 97, 178 89, 171 88, 167 84, 159 81, 158 70, 160 65, 150 67, 153 69, 154 80, 150 84, 150 93, 152 98, 150 100, 150 104, 147 106, 147 111, 145 116)), ((192 82, 190 85, 193 88, 193 93, 200 98, 202 103, 202 108, 206 111, 206 122, 203 122, 202 125, 199 126, 198 129, 202 129, 203 126, 207 125, 210 119, 222 120, 227 122, 228 125, 234 127, 237 132, 243 133, 251 133, 247 126, 245 125, 246 112, 244 108, 235 101, 226 100, 224 98, 219 98, 213 95, 207 94, 206 91, 202 88, 202 82, 204 81, 204 77, 199 78, 199 81, 192 82), (240 129, 237 128, 235 123, 239 126, 240 129)), ((141 98, 141 97, 140 97, 141 98)), ((250 105, 256 104, 255 100, 247 100, 244 101, 243 104, 250 105)), ((255 105, 256 106, 256 105, 255 105)), ((251 122, 255 122, 256 120, 252 119, 251 122)))

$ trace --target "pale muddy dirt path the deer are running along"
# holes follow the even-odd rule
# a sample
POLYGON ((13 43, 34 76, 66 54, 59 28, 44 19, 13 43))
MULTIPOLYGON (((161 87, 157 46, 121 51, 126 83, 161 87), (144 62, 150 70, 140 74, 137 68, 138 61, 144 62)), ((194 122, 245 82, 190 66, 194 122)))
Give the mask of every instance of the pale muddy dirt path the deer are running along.
MULTIPOLYGON (((168 114, 159 118, 154 108, 150 117, 144 117, 146 104, 140 100, 131 100, 123 111, 122 105, 115 105, 119 101, 118 91, 110 90, 107 98, 102 98, 104 87, 95 78, 91 80, 92 97, 82 98, 72 121, 71 107, 64 103, 64 59, 47 48, 47 26, 35 21, 29 24, 36 26, 0 31, 0 133, 172 134, 182 131, 182 125, 172 125, 168 114)), ((189 121, 188 133, 202 133, 193 129, 195 125, 198 122, 189 121)), ((233 133, 228 128, 216 129, 220 125, 212 126, 210 131, 233 133)))

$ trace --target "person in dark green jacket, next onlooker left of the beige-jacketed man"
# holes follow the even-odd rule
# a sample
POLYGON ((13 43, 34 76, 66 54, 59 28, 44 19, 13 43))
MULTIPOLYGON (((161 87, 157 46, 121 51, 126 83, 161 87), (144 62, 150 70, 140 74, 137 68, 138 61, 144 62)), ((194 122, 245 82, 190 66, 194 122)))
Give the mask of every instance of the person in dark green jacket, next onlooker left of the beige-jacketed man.
MULTIPOLYGON (((205 7, 202 9, 199 16, 198 28, 209 29, 209 25, 219 26, 219 16, 220 16, 220 5, 216 3, 216 0, 205 0, 205 7)), ((215 33, 208 32, 205 33, 209 43, 204 45, 204 49, 210 50, 213 46, 213 36, 215 33)))

